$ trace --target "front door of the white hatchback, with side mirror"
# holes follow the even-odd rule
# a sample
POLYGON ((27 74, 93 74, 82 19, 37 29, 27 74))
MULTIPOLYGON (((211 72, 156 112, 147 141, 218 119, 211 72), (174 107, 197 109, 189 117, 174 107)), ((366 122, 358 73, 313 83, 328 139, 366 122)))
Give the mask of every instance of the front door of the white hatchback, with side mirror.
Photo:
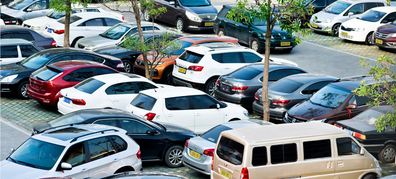
POLYGON ((196 133, 204 133, 210 128, 224 123, 223 109, 217 109, 217 103, 208 95, 190 96, 190 103, 194 109, 196 133))

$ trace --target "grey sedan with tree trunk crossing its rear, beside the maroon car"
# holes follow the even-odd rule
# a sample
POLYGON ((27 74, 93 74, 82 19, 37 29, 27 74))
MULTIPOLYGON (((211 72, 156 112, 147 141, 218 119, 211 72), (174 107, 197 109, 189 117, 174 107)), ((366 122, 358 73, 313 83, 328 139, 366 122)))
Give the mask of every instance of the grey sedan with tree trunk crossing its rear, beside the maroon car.
MULTIPOLYGON (((338 78, 325 74, 301 73, 284 77, 268 86, 271 120, 283 120, 291 107, 311 97, 319 89, 338 78)), ((254 95, 253 113, 263 116, 263 88, 254 95)))

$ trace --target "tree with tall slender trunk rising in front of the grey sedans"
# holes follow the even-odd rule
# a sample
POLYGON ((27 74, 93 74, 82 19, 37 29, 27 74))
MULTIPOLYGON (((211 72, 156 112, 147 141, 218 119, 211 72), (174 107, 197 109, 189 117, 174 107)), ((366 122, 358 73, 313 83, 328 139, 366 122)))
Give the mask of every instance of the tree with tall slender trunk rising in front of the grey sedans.
MULTIPOLYGON (((236 0, 236 6, 228 11, 227 17, 236 22, 246 21, 253 23, 254 21, 267 21, 267 31, 265 34, 265 67, 263 77, 263 113, 264 120, 269 120, 268 106, 268 65, 270 55, 270 45, 272 37, 272 29, 278 22, 278 17, 282 17, 279 23, 282 30, 286 30, 288 35, 293 32, 299 32, 300 35, 306 36, 311 33, 309 29, 301 29, 298 21, 305 20, 306 17, 312 15, 312 6, 305 7, 305 0, 276 0, 277 4, 271 4, 271 0, 254 0, 253 4, 249 4, 247 0, 236 0)), ((306 23, 309 25, 309 23, 306 23)), ((301 39, 298 36, 291 43, 299 44, 301 39)))

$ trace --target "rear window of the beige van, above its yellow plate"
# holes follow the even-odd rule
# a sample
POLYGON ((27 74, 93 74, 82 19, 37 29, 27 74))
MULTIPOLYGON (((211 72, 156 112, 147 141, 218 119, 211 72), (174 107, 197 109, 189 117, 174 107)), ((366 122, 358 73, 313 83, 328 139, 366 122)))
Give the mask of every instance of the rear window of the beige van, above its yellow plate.
POLYGON ((242 164, 242 159, 244 157, 244 145, 221 136, 219 145, 216 149, 216 154, 219 158, 230 162, 231 164, 240 165, 242 164))

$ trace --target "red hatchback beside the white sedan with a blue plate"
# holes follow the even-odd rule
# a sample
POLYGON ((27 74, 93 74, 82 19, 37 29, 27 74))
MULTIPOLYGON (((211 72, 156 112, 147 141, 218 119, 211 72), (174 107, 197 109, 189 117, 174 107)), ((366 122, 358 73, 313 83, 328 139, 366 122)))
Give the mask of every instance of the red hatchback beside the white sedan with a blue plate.
POLYGON ((30 75, 27 96, 41 104, 56 106, 61 89, 72 87, 92 76, 111 73, 120 72, 88 60, 53 63, 30 75))

